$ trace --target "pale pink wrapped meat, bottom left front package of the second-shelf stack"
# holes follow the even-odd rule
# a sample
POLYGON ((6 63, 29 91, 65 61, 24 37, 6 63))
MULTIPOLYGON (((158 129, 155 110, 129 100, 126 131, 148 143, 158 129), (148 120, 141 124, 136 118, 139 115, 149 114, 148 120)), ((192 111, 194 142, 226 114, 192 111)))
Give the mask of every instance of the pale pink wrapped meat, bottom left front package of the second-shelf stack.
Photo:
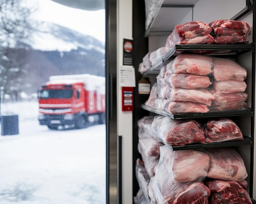
POLYGON ((206 104, 181 101, 167 101, 167 103, 164 105, 164 110, 171 114, 207 113, 209 111, 206 104))

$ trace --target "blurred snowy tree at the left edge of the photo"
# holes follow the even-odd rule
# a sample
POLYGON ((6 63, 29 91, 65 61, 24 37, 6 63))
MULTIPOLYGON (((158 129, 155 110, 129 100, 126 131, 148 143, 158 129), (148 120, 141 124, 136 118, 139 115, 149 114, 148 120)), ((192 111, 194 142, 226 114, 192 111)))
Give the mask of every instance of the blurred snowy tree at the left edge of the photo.
POLYGON ((0 87, 6 94, 18 94, 26 74, 22 50, 33 32, 33 12, 24 0, 0 0, 0 87))

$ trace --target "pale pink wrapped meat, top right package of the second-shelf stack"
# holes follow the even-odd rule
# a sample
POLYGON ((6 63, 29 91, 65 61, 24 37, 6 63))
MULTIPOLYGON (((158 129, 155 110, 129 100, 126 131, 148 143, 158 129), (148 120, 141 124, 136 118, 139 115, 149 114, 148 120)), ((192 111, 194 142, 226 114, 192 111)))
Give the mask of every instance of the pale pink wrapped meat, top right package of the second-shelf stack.
POLYGON ((244 81, 247 71, 234 59, 213 57, 213 77, 216 81, 244 81))

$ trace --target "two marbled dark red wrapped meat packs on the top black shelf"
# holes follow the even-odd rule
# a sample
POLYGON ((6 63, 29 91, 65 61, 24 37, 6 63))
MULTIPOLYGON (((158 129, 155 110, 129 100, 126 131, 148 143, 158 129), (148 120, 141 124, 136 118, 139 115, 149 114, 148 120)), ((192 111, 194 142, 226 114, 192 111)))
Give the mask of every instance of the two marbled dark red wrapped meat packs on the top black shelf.
MULTIPOLYGON (((246 44, 251 33, 245 21, 214 20, 208 24, 191 21, 175 26, 165 44, 166 52, 176 44, 246 44)), ((198 53, 195 50, 195 53, 198 53)), ((210 51, 200 53, 213 53, 210 51)))

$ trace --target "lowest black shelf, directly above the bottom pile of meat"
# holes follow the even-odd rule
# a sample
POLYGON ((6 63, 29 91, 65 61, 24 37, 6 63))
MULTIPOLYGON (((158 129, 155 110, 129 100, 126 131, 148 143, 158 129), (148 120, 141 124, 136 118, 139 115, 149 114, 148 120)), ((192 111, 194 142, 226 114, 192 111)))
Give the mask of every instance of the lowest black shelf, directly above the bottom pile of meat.
POLYGON ((251 145, 252 138, 248 136, 243 136, 244 140, 241 141, 223 141, 223 142, 213 142, 213 143, 204 143, 204 144, 191 144, 183 146, 170 146, 173 151, 187 150, 187 149, 207 149, 207 148, 216 148, 216 147, 232 147, 240 145, 251 145))

